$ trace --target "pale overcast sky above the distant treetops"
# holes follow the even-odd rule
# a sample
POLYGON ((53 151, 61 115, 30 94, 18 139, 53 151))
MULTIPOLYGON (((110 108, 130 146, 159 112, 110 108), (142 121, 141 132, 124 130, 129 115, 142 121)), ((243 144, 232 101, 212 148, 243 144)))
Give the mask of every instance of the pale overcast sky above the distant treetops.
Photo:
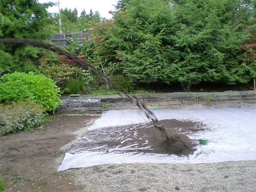
MULTIPOLYGON (((39 0, 39 3, 46 2, 58 2, 58 0, 39 0)), ((83 9, 86 10, 87 13, 90 12, 90 9, 95 11, 99 11, 101 17, 111 18, 112 15, 109 14, 110 10, 114 10, 115 7, 113 5, 117 5, 118 0, 59 0, 60 8, 65 9, 74 9, 76 8, 78 14, 81 13, 83 9)), ((54 6, 48 10, 49 12, 58 12, 58 6, 54 6)))

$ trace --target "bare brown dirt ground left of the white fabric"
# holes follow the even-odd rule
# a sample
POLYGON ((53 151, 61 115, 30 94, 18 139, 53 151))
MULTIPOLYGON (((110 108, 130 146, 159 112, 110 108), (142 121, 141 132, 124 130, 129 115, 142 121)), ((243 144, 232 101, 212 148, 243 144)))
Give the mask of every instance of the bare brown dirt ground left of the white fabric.
POLYGON ((75 139, 75 131, 89 126, 98 117, 59 116, 33 132, 0 137, 0 175, 7 191, 82 191, 74 176, 57 173, 60 148, 75 139))

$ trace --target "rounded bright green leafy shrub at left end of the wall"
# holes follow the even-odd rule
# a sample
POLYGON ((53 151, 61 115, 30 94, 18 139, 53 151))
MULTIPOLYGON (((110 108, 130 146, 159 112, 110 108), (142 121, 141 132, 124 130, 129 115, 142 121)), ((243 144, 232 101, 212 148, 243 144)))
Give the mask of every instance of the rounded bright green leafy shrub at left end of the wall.
POLYGON ((52 79, 33 72, 5 74, 0 79, 0 103, 4 104, 30 99, 54 111, 61 103, 59 92, 52 79))

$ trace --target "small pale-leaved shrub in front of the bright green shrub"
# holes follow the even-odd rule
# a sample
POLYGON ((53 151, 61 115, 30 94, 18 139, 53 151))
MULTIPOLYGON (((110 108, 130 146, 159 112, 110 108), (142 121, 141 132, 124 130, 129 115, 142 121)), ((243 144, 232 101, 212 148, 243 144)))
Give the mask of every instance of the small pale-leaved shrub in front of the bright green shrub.
POLYGON ((0 105, 0 135, 35 129, 40 125, 44 112, 41 105, 30 100, 0 105))

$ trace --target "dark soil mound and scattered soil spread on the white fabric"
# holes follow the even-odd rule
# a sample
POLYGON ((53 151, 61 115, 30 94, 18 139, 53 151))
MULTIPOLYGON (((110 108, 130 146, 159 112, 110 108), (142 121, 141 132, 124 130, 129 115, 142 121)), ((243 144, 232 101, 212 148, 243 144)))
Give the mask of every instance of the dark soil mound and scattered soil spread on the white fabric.
POLYGON ((198 142, 187 135, 197 131, 203 131, 203 124, 176 119, 162 120, 156 125, 144 123, 107 127, 87 132, 69 153, 98 151, 188 155, 195 151, 198 142))

